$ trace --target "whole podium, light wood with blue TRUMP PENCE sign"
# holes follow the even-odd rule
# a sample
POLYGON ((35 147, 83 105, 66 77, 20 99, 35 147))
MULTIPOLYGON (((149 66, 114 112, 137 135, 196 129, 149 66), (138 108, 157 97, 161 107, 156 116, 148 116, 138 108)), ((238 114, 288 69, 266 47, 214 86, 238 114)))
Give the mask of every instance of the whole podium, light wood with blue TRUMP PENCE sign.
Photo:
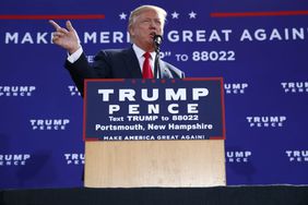
POLYGON ((85 186, 225 185, 222 79, 88 80, 85 186))

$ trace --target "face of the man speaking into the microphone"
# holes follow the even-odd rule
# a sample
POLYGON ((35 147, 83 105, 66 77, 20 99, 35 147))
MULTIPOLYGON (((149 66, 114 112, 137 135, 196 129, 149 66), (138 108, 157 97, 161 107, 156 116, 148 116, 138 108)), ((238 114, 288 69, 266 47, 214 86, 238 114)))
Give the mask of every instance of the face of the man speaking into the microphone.
POLYGON ((153 51, 153 37, 163 35, 164 22, 154 10, 145 10, 134 20, 130 27, 130 34, 134 44, 146 51, 153 51))

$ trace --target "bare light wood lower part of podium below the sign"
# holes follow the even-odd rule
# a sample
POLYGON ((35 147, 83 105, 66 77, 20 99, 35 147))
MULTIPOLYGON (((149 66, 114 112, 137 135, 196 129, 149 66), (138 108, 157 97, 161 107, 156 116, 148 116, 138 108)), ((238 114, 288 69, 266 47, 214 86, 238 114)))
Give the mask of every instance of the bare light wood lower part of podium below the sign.
POLYGON ((225 185, 223 140, 86 142, 87 188, 225 185))

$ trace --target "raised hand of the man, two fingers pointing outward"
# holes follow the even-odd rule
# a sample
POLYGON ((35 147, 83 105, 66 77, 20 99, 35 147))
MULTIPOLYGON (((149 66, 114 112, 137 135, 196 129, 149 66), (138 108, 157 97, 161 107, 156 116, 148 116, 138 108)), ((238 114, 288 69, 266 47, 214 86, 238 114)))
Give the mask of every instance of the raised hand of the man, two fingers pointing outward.
POLYGON ((55 21, 50 20, 49 23, 55 27, 56 32, 52 36, 52 43, 67 49, 70 55, 80 48, 80 40, 75 29, 70 21, 67 21, 67 28, 59 26, 55 21))

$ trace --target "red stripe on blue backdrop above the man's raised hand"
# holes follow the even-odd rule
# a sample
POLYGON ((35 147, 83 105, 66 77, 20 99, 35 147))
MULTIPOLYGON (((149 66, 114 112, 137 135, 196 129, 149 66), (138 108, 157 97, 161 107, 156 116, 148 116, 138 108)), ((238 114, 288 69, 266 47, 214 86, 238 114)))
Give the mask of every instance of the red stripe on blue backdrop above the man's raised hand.
POLYGON ((104 20, 104 14, 0 15, 0 20, 104 20))

